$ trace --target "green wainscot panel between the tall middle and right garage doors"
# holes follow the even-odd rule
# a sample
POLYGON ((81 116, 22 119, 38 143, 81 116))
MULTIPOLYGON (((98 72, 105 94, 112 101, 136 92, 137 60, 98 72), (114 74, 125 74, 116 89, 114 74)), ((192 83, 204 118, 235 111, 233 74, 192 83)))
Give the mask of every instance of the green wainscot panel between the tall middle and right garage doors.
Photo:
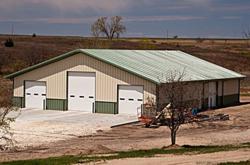
POLYGON ((117 114, 117 103, 116 102, 95 102, 95 113, 107 113, 107 114, 117 114))

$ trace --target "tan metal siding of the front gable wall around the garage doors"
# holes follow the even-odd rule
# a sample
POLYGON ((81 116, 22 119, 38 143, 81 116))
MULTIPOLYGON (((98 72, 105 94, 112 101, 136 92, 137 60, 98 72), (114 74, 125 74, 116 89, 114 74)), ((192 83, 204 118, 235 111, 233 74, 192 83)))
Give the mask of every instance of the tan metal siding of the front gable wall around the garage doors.
POLYGON ((14 96, 23 96, 23 81, 47 82, 47 98, 66 99, 67 71, 96 72, 96 100, 117 100, 117 85, 144 86, 144 100, 155 99, 156 85, 87 55, 77 54, 14 78, 14 96))

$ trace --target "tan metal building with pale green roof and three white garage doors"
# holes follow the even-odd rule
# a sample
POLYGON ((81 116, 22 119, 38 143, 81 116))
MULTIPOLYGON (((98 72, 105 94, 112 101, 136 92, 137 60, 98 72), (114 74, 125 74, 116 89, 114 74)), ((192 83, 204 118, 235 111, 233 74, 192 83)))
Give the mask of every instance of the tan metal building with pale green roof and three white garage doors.
POLYGON ((182 51, 78 49, 6 78, 19 107, 136 114, 147 98, 164 102, 159 85, 183 69, 200 108, 239 103, 245 76, 182 51))

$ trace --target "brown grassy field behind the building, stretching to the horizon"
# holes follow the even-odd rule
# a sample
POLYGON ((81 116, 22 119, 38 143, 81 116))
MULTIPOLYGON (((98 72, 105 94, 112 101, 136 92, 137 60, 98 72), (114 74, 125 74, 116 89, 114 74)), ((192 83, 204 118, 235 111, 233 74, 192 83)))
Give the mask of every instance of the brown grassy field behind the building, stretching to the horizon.
MULTIPOLYGON (((109 41, 72 36, 0 35, 0 75, 34 65, 78 48, 182 50, 199 58, 248 76, 243 87, 250 86, 250 46, 241 39, 162 39, 121 38, 109 41), (5 47, 12 38, 14 47, 5 47)), ((247 92, 250 91, 246 88, 247 92)))

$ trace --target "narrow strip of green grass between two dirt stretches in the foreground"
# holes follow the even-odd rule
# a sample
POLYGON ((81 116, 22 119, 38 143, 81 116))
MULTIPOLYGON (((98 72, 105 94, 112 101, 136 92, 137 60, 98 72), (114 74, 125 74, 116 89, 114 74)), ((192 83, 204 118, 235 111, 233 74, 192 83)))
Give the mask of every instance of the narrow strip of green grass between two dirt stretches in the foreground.
POLYGON ((117 152, 111 155, 77 155, 77 156, 61 156, 51 157, 46 159, 34 159, 34 160, 21 160, 12 162, 3 162, 0 165, 67 165, 74 163, 89 163, 101 160, 112 160, 122 158, 136 158, 136 157, 153 157, 156 154, 201 154, 201 153, 213 153, 220 151, 231 151, 240 148, 250 148, 249 143, 243 143, 240 145, 224 145, 224 146, 189 146, 184 145, 180 149, 150 149, 150 150, 134 150, 117 152))

